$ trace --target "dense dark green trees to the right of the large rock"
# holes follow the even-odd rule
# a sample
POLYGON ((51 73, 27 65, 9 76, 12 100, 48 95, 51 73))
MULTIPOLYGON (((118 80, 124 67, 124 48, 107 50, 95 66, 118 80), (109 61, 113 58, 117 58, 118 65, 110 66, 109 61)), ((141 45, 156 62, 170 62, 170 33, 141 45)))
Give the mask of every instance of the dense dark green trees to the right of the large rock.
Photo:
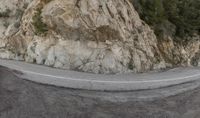
POLYGON ((182 39, 200 34, 200 0, 133 0, 133 4, 157 35, 157 26, 166 21, 176 26, 174 34, 182 39))

